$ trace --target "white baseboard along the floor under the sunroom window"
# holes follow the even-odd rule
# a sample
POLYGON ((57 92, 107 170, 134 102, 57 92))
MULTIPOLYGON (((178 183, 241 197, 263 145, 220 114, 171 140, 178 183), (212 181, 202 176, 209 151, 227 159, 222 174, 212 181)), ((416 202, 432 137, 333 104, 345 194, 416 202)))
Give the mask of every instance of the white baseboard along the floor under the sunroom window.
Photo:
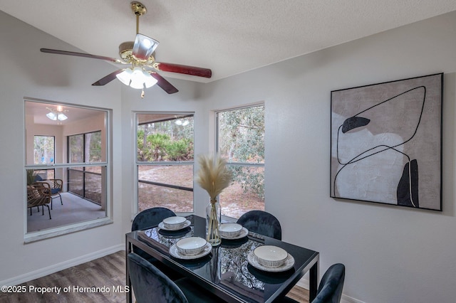
POLYGON ((66 270, 69 267, 80 265, 85 262, 89 262, 91 260, 98 259, 99 257, 104 257, 105 255, 110 255, 114 252, 118 252, 119 250, 125 250, 124 244, 119 244, 112 246, 110 248, 105 248, 104 250, 98 250, 97 252, 91 252, 88 255, 83 255, 81 257, 76 257, 74 259, 61 262, 55 265, 51 265, 48 267, 41 268, 39 270, 35 270, 33 272, 27 272, 24 275, 19 275, 17 277, 12 277, 11 279, 0 281, 0 285, 19 285, 24 282, 28 282, 31 280, 38 279, 39 277, 44 277, 46 275, 51 275, 54 272, 58 272, 60 270, 66 270))

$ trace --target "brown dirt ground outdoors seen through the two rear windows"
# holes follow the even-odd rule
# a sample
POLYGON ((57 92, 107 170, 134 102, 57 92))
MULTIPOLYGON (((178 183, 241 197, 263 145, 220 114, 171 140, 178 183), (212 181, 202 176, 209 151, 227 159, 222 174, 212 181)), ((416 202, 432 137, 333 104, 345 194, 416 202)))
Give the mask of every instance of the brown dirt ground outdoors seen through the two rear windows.
MULTIPOLYGON (((193 187, 193 166, 140 166, 139 179, 162 184, 193 187)), ((197 186, 197 184, 195 184, 197 186)), ((251 210, 264 211, 264 201, 254 193, 244 193, 239 183, 224 189, 219 196, 222 215, 239 218, 251 210)), ((207 198, 209 203, 209 196, 207 198)), ((193 192, 141 183, 138 186, 138 208, 143 211, 156 206, 170 208, 175 213, 193 211, 193 192)))

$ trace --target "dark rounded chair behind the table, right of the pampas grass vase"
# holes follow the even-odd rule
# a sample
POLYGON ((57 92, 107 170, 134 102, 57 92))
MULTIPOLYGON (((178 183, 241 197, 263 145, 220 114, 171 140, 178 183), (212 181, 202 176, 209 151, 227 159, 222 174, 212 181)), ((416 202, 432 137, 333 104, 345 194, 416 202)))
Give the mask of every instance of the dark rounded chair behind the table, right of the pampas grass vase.
POLYGON ((282 228, 279 220, 266 211, 248 211, 237 220, 237 223, 254 233, 282 240, 282 228))

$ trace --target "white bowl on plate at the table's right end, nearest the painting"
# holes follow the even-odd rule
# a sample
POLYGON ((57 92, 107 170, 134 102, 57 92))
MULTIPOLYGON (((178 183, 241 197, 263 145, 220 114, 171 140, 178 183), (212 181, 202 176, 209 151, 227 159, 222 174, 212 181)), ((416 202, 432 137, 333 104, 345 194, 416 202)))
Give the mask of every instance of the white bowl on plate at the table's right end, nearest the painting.
POLYGON ((266 272, 283 272, 294 265, 294 257, 283 248, 273 245, 261 245, 247 255, 247 261, 253 267, 266 272))

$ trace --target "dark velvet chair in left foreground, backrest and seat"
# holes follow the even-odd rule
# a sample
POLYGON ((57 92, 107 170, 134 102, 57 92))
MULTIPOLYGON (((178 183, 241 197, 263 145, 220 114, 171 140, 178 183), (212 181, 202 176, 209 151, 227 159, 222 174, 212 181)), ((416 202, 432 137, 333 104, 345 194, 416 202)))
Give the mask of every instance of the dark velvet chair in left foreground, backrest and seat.
POLYGON ((133 293, 138 303, 222 302, 222 299, 188 278, 170 280, 157 267, 133 252, 128 254, 127 262, 133 293))

